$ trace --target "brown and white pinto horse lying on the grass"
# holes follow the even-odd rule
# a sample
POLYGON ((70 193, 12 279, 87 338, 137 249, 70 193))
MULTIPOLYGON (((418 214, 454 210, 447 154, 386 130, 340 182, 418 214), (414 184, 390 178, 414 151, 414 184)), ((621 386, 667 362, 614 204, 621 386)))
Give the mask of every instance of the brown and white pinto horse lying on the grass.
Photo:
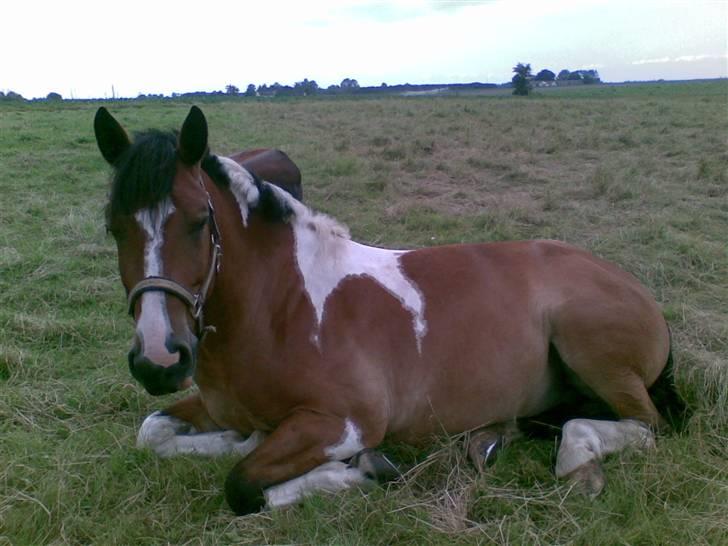
POLYGON ((131 141, 104 108, 94 127, 113 166, 129 368, 152 395, 196 385, 137 444, 237 454, 236 514, 396 476, 385 437, 471 431, 484 463, 523 418, 578 400, 613 417, 566 422, 555 472, 596 495, 600 460, 654 445, 666 424, 650 393, 674 387, 668 326, 616 265, 552 240, 354 242, 242 156, 212 154, 196 106, 178 134, 131 141))

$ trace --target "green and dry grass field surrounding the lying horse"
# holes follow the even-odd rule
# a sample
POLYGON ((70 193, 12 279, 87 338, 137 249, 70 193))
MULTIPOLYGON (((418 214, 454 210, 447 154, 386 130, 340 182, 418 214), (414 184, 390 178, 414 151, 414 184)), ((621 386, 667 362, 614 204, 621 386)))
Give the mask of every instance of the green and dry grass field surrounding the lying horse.
MULTIPOLYGON (((107 104, 132 129, 177 128, 189 106, 107 104)), ((663 306, 693 416, 608 459, 593 501, 553 477, 553 442, 478 475, 456 438, 385 446, 408 469, 387 488, 234 518, 233 459, 134 448, 171 397, 125 363, 97 105, 0 104, 0 545, 728 543, 728 83, 202 106, 215 152, 285 150, 356 240, 549 237, 621 264, 663 306)))

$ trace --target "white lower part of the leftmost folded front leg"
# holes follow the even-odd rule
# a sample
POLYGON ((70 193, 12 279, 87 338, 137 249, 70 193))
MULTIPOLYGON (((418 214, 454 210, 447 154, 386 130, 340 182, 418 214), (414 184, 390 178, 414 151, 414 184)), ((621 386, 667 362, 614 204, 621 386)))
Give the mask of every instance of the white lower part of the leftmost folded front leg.
POLYGON ((161 412, 149 415, 139 428, 137 448, 151 449, 160 457, 175 455, 239 455, 245 457, 265 438, 262 432, 254 432, 243 438, 234 430, 195 433, 194 427, 161 412))

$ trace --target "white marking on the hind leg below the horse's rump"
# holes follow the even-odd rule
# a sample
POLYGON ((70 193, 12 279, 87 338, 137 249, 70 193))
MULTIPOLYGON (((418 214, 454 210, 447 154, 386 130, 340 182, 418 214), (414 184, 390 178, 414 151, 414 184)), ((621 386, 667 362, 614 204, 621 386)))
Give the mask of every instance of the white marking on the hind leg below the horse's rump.
POLYGON ((654 445, 654 434, 639 421, 572 419, 562 431, 561 446, 556 456, 556 476, 563 478, 589 461, 599 461, 605 455, 627 447, 644 449, 654 445))

